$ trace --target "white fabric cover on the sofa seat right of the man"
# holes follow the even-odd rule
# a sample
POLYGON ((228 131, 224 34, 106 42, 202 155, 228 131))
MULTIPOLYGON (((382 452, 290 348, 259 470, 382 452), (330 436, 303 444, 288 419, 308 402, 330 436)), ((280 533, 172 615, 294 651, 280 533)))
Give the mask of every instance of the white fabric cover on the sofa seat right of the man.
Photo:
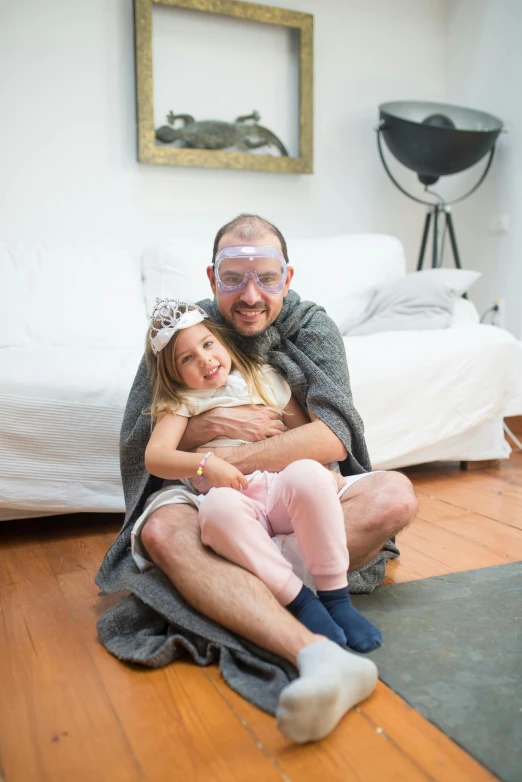
POLYGON ((472 325, 344 343, 374 468, 509 455, 499 422, 522 414, 522 343, 509 332, 472 325))

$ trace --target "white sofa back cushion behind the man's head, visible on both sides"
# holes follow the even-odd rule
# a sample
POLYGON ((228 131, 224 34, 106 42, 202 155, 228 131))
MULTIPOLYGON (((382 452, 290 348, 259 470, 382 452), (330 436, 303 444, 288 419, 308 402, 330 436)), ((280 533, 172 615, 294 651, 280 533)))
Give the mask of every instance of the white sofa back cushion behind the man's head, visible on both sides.
MULTIPOLYGON (((363 311, 366 291, 403 276, 406 261, 401 242, 385 234, 351 234, 325 239, 288 241, 295 268, 292 288, 303 299, 322 304, 339 323, 350 311, 363 311)), ((157 296, 197 301, 209 296, 206 268, 208 241, 178 239, 148 248, 142 256, 145 300, 152 311, 157 296)))

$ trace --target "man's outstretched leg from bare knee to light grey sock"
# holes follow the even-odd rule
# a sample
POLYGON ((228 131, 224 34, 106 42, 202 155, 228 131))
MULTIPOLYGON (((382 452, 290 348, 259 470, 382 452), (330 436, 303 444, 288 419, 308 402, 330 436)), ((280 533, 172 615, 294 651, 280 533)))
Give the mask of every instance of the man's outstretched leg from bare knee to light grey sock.
POLYGON ((287 738, 299 743, 324 738, 374 690, 377 668, 371 660, 311 633, 256 576, 203 546, 195 508, 158 508, 141 538, 190 605, 297 666, 300 676, 282 690, 277 709, 287 738))

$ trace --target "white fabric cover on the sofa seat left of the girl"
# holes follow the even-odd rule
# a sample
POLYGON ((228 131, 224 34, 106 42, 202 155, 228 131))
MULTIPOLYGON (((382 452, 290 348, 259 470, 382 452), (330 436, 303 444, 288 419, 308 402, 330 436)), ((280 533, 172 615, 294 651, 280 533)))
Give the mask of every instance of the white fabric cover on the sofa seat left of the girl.
POLYGON ((124 510, 119 431, 141 355, 0 350, 0 519, 124 510))

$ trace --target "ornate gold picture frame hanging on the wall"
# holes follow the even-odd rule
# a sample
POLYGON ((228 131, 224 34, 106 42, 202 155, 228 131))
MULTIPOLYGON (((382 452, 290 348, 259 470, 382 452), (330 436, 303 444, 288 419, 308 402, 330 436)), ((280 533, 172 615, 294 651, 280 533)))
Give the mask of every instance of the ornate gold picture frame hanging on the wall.
POLYGON ((138 160, 204 168, 313 173, 313 16, 239 0, 134 0, 138 160), (173 6, 297 30, 299 43, 299 155, 296 157, 161 146, 154 129, 152 9, 173 6))

